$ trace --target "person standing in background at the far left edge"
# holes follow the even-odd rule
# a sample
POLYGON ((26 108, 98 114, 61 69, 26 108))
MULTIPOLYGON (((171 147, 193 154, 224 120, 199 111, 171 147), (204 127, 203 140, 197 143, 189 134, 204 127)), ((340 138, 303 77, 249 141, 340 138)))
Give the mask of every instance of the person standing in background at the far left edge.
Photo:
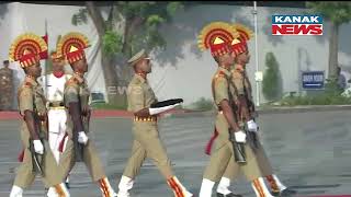
POLYGON ((13 102, 13 70, 9 68, 9 60, 3 61, 0 69, 0 111, 12 109, 13 102))

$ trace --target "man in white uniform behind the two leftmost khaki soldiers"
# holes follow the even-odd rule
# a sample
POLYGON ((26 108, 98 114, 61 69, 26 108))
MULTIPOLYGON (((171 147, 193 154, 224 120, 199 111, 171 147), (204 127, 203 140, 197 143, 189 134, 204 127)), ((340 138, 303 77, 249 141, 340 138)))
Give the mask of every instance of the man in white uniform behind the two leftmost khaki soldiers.
MULTIPOLYGON (((65 58, 58 56, 56 51, 50 54, 53 62, 53 73, 42 77, 45 95, 47 96, 47 117, 48 117, 48 142, 54 153, 57 164, 59 163, 60 152, 64 150, 64 137, 66 135, 66 108, 64 105, 64 91, 66 82, 71 74, 65 73, 65 58), (61 146, 60 146, 61 144, 61 146)), ((67 139, 67 138, 66 138, 67 139)), ((65 140, 64 142, 67 142, 65 140)), ((66 179, 69 188, 69 179, 66 179)))

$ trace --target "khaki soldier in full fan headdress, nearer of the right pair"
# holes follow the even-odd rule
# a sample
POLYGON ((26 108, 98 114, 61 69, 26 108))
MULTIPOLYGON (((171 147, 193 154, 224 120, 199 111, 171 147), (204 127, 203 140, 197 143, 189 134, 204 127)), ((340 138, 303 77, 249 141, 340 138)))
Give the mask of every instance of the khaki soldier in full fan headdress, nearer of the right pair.
MULTIPOLYGON (((258 182, 261 176, 260 167, 251 147, 246 143, 246 134, 236 123, 235 113, 231 108, 230 94, 230 67, 234 63, 234 55, 230 42, 236 36, 235 30, 227 23, 214 22, 206 25, 199 36, 201 49, 211 49, 214 59, 218 63, 212 84, 213 96, 218 108, 215 127, 217 136, 214 139, 214 148, 211 151, 210 164, 206 166, 200 189, 200 197, 211 197, 215 182, 219 181, 226 169, 234 172, 242 171, 248 181, 258 182), (244 143, 246 162, 237 163, 238 152, 234 152, 234 146, 244 143)), ((239 162, 239 161, 238 161, 239 162)), ((222 196, 233 196, 223 194, 222 196)))

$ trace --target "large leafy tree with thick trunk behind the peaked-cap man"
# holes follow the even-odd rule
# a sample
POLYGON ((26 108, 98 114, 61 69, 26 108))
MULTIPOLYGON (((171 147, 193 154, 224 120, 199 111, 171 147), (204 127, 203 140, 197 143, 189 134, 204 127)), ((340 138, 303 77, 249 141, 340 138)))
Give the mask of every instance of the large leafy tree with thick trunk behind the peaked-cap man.
MULTIPOLYGON (((161 24, 171 21, 181 2, 152 1, 113 1, 110 15, 104 20, 99 7, 93 1, 86 1, 86 8, 72 15, 72 24, 87 23, 92 19, 102 44, 102 69, 105 85, 126 85, 132 78, 132 69, 125 60, 141 48, 147 50, 162 49, 166 40, 159 32, 161 24), (117 61, 116 57, 124 59, 117 61), (117 67, 116 67, 117 65, 117 67)), ((107 94, 112 105, 125 105, 125 94, 107 94)))

